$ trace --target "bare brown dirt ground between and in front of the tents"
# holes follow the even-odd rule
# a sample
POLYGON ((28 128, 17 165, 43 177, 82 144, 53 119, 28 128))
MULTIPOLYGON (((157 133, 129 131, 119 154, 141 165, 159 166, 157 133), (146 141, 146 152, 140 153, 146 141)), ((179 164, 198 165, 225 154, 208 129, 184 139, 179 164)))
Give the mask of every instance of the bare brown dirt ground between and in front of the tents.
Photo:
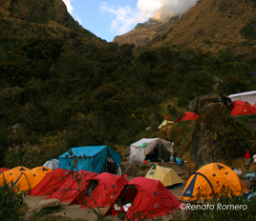
MULTIPOLYGON (((148 168, 150 168, 151 165, 148 165, 148 167, 144 167, 144 171, 139 170, 139 174, 138 175, 143 175, 146 173, 146 171, 148 171, 148 168)), ((165 165, 164 165, 165 166, 165 165)), ((129 172, 133 171, 133 169, 126 169, 124 171, 126 171, 127 173, 132 173, 129 172)), ((178 187, 176 189, 170 190, 178 199, 180 199, 181 193, 185 187, 186 181, 188 179, 188 173, 185 169, 185 167, 178 167, 175 166, 174 170, 181 176, 181 174, 183 174, 181 176, 182 180, 184 181, 184 185, 181 187, 178 187)), ((138 172, 137 172, 138 173, 138 172)), ((132 180, 135 176, 128 174, 129 176, 126 177, 129 181, 132 180)), ((249 182, 248 180, 243 179, 242 180, 243 183, 245 184, 245 187, 249 187, 249 182)), ((31 196, 31 195, 27 195, 24 199, 24 202, 28 205, 28 207, 30 208, 30 211, 27 213, 25 220, 30 220, 30 216, 32 214, 32 211, 35 209, 35 207, 37 206, 37 204, 45 199, 47 196, 31 196)), ((55 212, 54 215, 61 215, 66 218, 71 218, 71 219, 76 219, 76 220, 87 220, 87 221, 95 221, 97 220, 96 214, 91 211, 90 209, 80 209, 80 205, 78 204, 74 204, 71 206, 65 206, 65 204, 63 204, 64 208, 62 211, 59 212, 55 212)), ((101 213, 105 213, 108 210, 108 208, 100 208, 99 211, 101 213)), ((110 218, 111 220, 118 220, 117 217, 115 216, 111 216, 108 215, 106 216, 106 218, 110 218)), ((172 218, 172 214, 169 215, 165 215, 165 216, 161 216, 162 221, 169 221, 172 218)))

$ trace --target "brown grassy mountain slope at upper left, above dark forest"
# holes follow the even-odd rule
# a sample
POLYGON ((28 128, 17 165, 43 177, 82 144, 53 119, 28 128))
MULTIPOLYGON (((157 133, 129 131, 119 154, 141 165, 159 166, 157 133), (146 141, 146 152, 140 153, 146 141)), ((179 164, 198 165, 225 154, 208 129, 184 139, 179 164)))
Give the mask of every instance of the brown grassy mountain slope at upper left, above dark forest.
POLYGON ((1 36, 13 40, 73 35, 83 43, 104 43, 75 22, 62 0, 0 0, 0 25, 1 36))

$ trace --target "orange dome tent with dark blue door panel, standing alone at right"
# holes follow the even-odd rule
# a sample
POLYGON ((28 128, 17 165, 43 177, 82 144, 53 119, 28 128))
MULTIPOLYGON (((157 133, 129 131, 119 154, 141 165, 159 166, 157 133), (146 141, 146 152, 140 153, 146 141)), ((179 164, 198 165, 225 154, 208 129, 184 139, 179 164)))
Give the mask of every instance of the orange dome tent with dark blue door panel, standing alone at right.
POLYGON ((245 185, 234 171, 224 164, 211 163, 190 175, 181 199, 205 199, 224 194, 241 195, 245 191, 245 185))

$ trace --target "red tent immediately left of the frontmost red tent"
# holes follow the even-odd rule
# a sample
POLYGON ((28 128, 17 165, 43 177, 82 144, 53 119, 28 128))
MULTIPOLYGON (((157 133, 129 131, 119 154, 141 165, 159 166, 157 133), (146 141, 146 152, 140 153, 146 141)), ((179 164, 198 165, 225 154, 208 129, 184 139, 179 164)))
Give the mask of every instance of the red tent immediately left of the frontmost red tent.
POLYGON ((103 172, 92 180, 97 181, 96 189, 86 199, 81 208, 109 207, 116 195, 129 181, 123 176, 103 172))

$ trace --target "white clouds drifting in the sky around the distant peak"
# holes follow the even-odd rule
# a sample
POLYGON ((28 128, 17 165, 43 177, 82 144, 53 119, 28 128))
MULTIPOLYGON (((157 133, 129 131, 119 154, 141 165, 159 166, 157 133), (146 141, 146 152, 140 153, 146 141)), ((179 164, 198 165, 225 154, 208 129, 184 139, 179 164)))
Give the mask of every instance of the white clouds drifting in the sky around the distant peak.
POLYGON ((110 6, 101 3, 100 10, 114 16, 111 30, 117 35, 132 30, 138 23, 147 21, 161 7, 166 6, 170 12, 184 13, 195 6, 197 0, 138 0, 137 8, 130 6, 110 6))

